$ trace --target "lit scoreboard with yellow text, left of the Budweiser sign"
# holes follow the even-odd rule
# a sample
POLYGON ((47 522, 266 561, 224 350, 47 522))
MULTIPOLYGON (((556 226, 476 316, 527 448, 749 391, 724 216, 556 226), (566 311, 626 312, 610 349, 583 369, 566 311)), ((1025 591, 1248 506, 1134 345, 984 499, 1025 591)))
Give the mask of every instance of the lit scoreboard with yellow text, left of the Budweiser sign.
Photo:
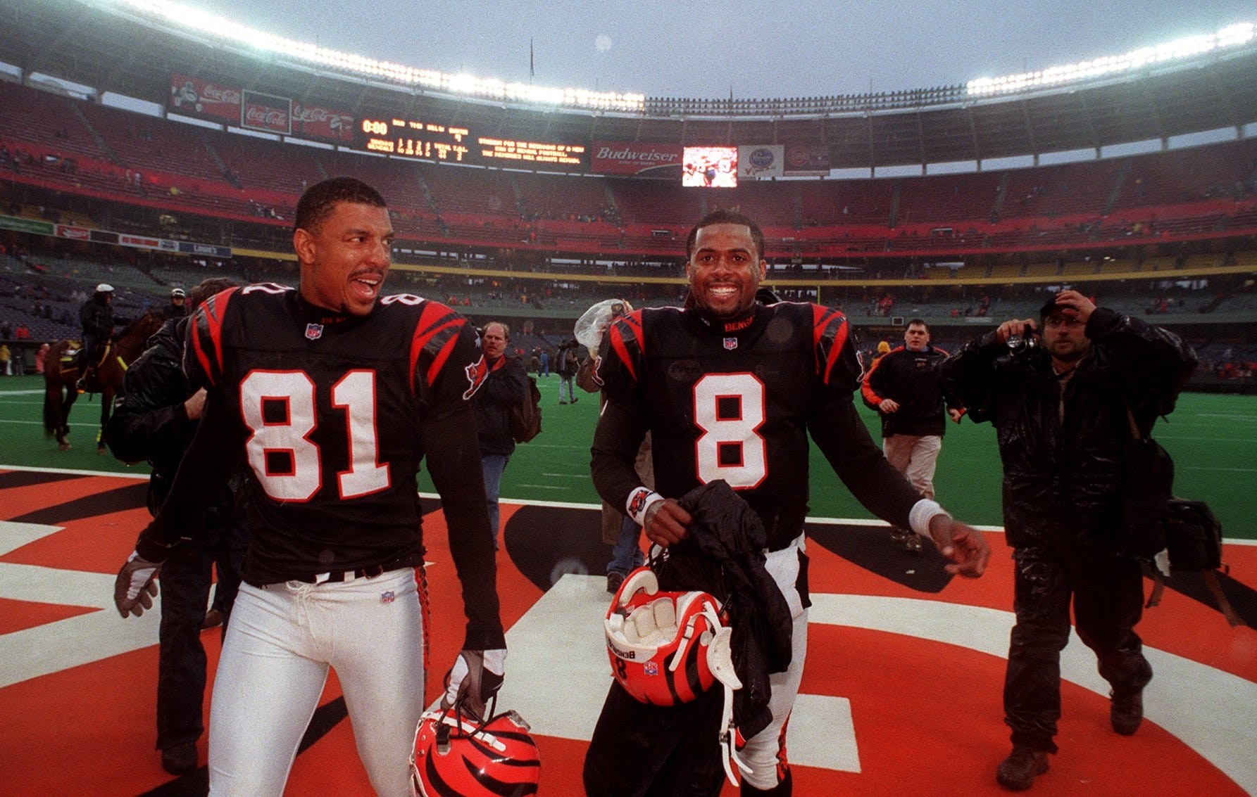
POLYGON ((475 166, 564 171, 588 167, 583 144, 473 136, 465 127, 419 119, 365 118, 353 144, 366 152, 475 166))

